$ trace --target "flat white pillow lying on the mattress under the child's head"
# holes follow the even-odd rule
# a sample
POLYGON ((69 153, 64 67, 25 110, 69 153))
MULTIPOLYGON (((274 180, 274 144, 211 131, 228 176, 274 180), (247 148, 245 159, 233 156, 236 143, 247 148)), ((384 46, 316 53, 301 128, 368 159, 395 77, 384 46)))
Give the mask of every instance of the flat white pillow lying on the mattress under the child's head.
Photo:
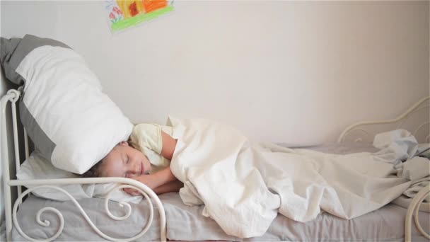
MULTIPOLYGON (((59 168, 52 166, 50 161, 47 161, 40 152, 33 151, 33 153, 24 161, 21 168, 16 173, 18 180, 33 180, 33 179, 59 179, 59 178, 79 178, 79 175, 63 171, 59 168)), ((106 197, 108 192, 112 190, 117 183, 105 183, 105 184, 70 184, 70 185, 59 185, 60 188, 69 192, 75 199, 89 198, 89 197, 106 197)), ((32 188, 33 185, 26 186, 32 188)), ((67 201, 70 198, 59 190, 50 188, 40 188, 33 190, 32 193, 37 197, 43 197, 50 200, 67 201)), ((142 196, 132 196, 122 190, 115 190, 110 196, 110 200, 113 201, 124 201, 139 203, 142 200, 142 196)))

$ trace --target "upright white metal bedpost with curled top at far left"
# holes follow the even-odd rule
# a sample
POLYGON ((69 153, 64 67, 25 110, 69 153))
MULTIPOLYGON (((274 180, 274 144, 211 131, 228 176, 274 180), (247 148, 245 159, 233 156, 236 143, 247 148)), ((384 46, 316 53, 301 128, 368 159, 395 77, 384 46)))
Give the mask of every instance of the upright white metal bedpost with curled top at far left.
MULTIPOLYGON (((4 210, 6 219, 6 239, 11 241, 12 236, 12 201, 11 201, 11 186, 8 185, 10 178, 9 174, 9 157, 8 157, 8 139, 6 128, 6 105, 8 101, 16 102, 20 96, 20 92, 10 90, 1 98, 1 119, 0 119, 0 134, 1 134, 1 163, 3 168, 3 188, 4 188, 4 210)), ((16 122, 16 120, 14 120, 16 122)))

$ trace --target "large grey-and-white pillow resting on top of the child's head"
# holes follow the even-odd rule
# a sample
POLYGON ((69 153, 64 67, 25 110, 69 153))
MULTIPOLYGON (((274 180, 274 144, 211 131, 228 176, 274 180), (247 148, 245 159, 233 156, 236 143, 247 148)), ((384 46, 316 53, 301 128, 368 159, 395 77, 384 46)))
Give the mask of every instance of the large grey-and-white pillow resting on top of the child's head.
POLYGON ((24 84, 21 122, 45 159, 85 173, 119 142, 132 123, 102 92, 83 58, 56 40, 1 38, 6 77, 24 84))

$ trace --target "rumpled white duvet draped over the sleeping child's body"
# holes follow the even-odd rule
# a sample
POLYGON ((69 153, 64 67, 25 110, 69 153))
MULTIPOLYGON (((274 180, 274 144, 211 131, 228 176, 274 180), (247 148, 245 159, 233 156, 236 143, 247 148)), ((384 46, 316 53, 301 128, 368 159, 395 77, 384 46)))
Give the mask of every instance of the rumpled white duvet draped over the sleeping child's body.
POLYGON ((394 168, 417 149, 405 130, 377 136, 376 154, 335 155, 250 144, 236 129, 209 120, 170 117, 170 125, 178 139, 170 168, 184 183, 182 201, 204 204, 204 216, 240 238, 265 234, 278 212, 303 222, 322 210, 358 217, 411 185, 394 168))

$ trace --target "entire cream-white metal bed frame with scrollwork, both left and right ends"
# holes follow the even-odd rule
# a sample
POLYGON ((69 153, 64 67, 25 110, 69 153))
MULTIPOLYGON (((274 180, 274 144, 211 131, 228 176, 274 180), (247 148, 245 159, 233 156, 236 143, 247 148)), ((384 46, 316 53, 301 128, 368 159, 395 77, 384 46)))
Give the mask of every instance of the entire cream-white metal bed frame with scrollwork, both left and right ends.
MULTIPOLYGON (((19 88, 18 88, 19 90, 19 88)), ((1 134, 1 163, 3 168, 3 175, 4 175, 4 201, 5 201, 5 212, 6 212, 6 238, 7 241, 11 241, 11 233, 12 233, 12 222, 15 225, 16 229, 18 230, 18 233, 21 234, 24 238, 28 239, 29 241, 37 241, 35 238, 30 238, 27 236, 20 228, 18 224, 18 220, 16 218, 16 212, 18 209, 19 204, 21 204, 23 197, 25 195, 28 195, 29 192, 41 188, 52 188, 59 190, 61 192, 64 192, 67 196, 70 197, 70 199, 76 204, 76 207, 78 207, 79 211, 83 215, 83 217, 88 221, 88 224, 95 230, 97 234, 99 234, 101 237, 108 239, 110 241, 132 241, 136 238, 139 238, 143 234, 146 233, 146 231, 149 229, 149 226, 151 226, 151 221, 153 219, 153 205, 151 203, 151 200, 149 200, 149 197, 153 200, 153 202, 158 207, 158 211, 160 214, 160 220, 161 220, 161 241, 166 241, 166 224, 165 224, 165 212, 163 208, 163 204, 157 197, 157 195, 146 185, 139 183, 136 180, 132 180, 129 178, 68 178, 68 179, 45 179, 45 180, 16 180, 11 179, 9 175, 9 158, 8 158, 8 137, 7 137, 7 130, 6 130, 6 106, 8 102, 11 102, 11 113, 12 113, 12 121, 13 121, 13 141, 14 141, 14 151, 15 151, 15 166, 17 169, 19 169, 21 165, 21 160, 19 157, 19 146, 18 146, 18 125, 17 125, 17 117, 16 117, 16 102, 18 101, 19 96, 21 95, 20 91, 11 89, 6 93, 5 96, 1 98, 1 118, 0 118, 0 134, 1 134), (119 183, 121 185, 117 185, 112 191, 122 188, 134 188, 136 190, 139 190, 142 195, 146 198, 146 201, 149 203, 150 212, 149 212, 149 221, 144 227, 144 229, 137 234, 136 236, 133 236, 132 238, 112 238, 103 232, 101 232, 96 226, 94 226, 93 222, 88 218, 86 215, 86 212, 83 211, 82 207, 79 205, 79 203, 72 197, 68 192, 63 190, 62 188, 57 187, 56 185, 65 185, 65 184, 90 184, 90 183, 119 183), (33 185, 32 188, 29 188, 25 190, 24 192, 21 192, 21 186, 25 185, 33 185), (11 187, 17 187, 18 191, 18 198, 14 202, 13 209, 12 209, 12 198, 11 198, 11 187)), ((371 121, 371 122, 358 122, 354 125, 351 125, 347 127, 347 129, 344 129, 342 134, 340 134, 338 142, 342 143, 346 139, 349 139, 349 137, 354 137, 354 134, 366 134, 367 136, 371 136, 374 134, 369 134, 369 132, 366 131, 365 127, 368 127, 369 125, 380 125, 380 124, 387 124, 387 123, 395 123, 400 122, 400 125, 397 127, 402 127, 402 125, 405 123, 405 120, 409 117, 412 117, 415 113, 419 112, 419 110, 429 110, 429 100, 430 97, 422 98, 422 100, 419 100, 415 105, 413 105, 407 112, 403 113, 399 117, 396 117, 393 120, 383 120, 383 121, 371 121), (424 104, 424 105, 423 105, 424 104)), ((428 115, 427 115, 428 116, 428 115)), ((417 134, 419 130, 424 129, 425 127, 429 126, 429 121, 424 122, 423 124, 419 125, 417 129, 413 132, 413 134, 417 134)), ((426 142, 429 142, 429 135, 426 136, 426 142)), ((363 142, 363 139, 361 137, 357 137, 354 139, 354 142, 363 142)), ((29 156, 29 149, 28 149, 28 137, 24 129, 24 144, 25 144, 25 158, 28 158, 29 156)), ((110 193, 112 193, 112 191, 110 193)), ((130 204, 127 202, 120 202, 120 206, 127 207, 126 215, 123 217, 116 217, 112 215, 108 209, 108 201, 110 197, 110 193, 108 197, 105 198, 105 210, 108 214, 108 216, 115 220, 124 220, 129 217, 129 215, 132 212, 132 208, 130 204)), ((422 226, 419 224, 418 220, 418 211, 419 206, 422 204, 424 198, 426 195, 429 195, 430 193, 430 185, 426 188, 422 189, 412 200, 412 202, 409 204, 409 208, 407 210, 407 215, 405 217, 405 241, 411 241, 411 226, 412 226, 412 217, 414 217, 415 224, 417 226, 417 229, 419 232, 425 236, 426 238, 430 239, 430 235, 426 234, 424 229, 422 229, 422 226)), ((44 207, 39 210, 36 214, 37 223, 41 226, 50 226, 50 221, 41 221, 40 215, 45 211, 51 211, 57 214, 60 220, 60 225, 57 230, 57 233, 51 236, 50 238, 47 238, 45 241, 52 241, 55 238, 57 238, 64 228, 64 218, 57 209, 53 207, 44 207)))

